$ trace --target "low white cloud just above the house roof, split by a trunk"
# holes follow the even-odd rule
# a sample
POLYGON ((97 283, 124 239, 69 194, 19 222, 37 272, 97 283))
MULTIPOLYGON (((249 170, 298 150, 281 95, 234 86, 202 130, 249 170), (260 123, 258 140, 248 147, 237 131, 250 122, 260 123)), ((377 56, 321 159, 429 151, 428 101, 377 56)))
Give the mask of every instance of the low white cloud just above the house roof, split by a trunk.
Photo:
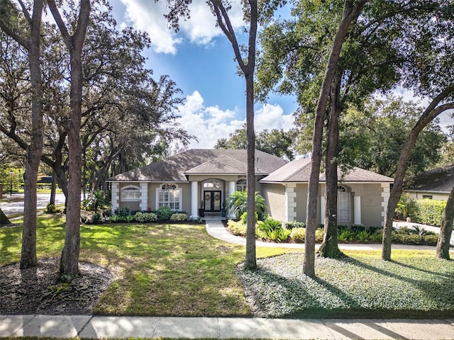
MULTIPOLYGON (((204 99, 198 91, 186 97, 179 106, 179 123, 190 135, 195 135, 190 148, 211 149, 220 138, 226 138, 235 130, 243 128, 245 119, 238 119, 238 110, 221 110, 218 106, 205 107, 204 99)), ((255 130, 292 128, 292 115, 284 115, 278 105, 265 104, 255 113, 255 130)))

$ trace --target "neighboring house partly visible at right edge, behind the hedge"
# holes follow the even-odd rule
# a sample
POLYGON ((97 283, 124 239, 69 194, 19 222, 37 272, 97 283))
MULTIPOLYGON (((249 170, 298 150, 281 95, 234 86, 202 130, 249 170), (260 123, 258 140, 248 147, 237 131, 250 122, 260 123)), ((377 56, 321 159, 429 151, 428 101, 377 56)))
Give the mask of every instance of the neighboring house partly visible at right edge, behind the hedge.
POLYGON ((405 180, 404 191, 415 200, 448 200, 454 187, 454 164, 441 166, 405 180))

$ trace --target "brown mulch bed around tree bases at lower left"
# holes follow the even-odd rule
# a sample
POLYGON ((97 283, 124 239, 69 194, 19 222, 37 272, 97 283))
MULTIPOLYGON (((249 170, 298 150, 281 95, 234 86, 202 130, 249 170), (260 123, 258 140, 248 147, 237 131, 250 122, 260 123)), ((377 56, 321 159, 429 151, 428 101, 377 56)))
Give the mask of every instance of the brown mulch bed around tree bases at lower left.
POLYGON ((114 275, 104 267, 79 262, 82 274, 70 284, 57 283, 60 259, 38 260, 21 270, 19 263, 0 267, 0 314, 92 314, 114 275))

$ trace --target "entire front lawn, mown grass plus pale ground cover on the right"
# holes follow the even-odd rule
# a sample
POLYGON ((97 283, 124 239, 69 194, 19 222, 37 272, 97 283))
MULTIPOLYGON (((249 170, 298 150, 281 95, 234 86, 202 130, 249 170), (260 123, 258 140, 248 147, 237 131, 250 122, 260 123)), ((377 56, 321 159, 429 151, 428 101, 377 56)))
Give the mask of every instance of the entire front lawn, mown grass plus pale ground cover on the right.
MULTIPOLYGON (((59 257, 64 220, 38 217, 38 257, 59 257)), ((0 266, 18 261, 21 228, 0 228, 0 266)), ((81 226, 81 261, 106 266, 116 280, 95 314, 150 316, 453 317, 454 261, 434 251, 350 251, 317 259, 318 278, 304 276, 304 254, 258 247, 260 269, 235 271, 244 247, 206 234, 204 225, 81 226), (277 256, 282 255, 283 256, 277 256)))

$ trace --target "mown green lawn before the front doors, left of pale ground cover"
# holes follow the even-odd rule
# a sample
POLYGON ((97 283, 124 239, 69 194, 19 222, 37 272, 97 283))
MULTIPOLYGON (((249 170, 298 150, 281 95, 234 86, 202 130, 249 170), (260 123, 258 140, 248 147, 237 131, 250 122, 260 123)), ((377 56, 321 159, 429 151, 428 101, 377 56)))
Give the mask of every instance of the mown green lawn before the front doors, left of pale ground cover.
MULTIPOLYGON (((60 256, 64 220, 38 217, 38 257, 60 256)), ((258 249, 259 256, 284 249, 258 249)), ((21 228, 0 229, 0 265, 18 261, 21 228)), ((204 225, 82 225, 81 261, 109 268, 117 279, 96 314, 250 316, 234 271, 243 246, 206 234, 204 225)))

